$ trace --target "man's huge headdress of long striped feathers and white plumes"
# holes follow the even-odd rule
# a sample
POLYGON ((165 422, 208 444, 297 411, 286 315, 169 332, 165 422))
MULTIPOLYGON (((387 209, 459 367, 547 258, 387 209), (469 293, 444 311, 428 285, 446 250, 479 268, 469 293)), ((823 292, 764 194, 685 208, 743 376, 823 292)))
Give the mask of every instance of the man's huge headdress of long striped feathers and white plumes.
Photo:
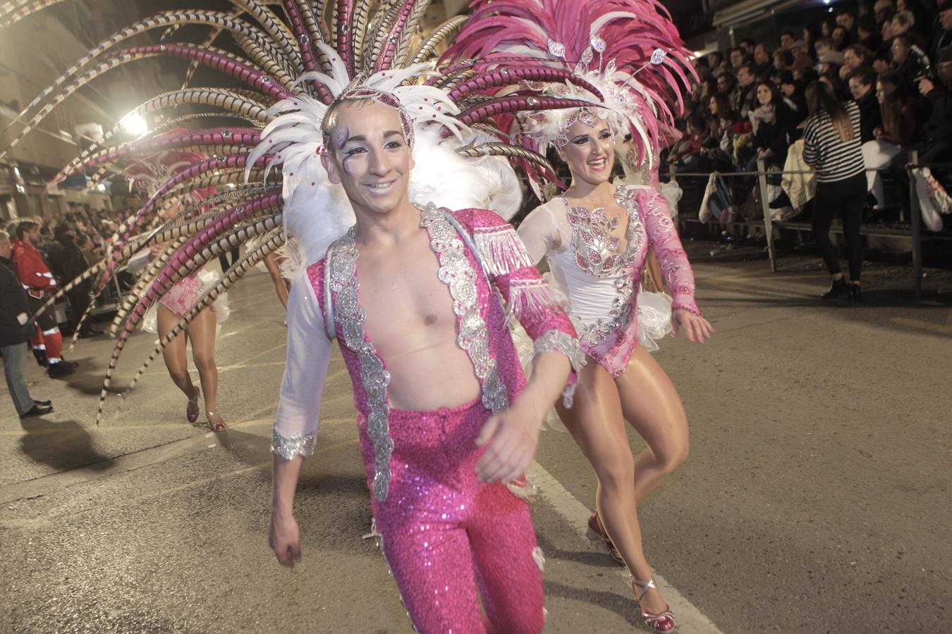
MULTIPOLYGON (((57 1, 7 3, 0 7, 0 28, 9 28, 57 1)), ((149 58, 188 61, 180 88, 149 96, 55 179, 59 182, 87 171, 92 173, 92 187, 121 174, 131 163, 149 162, 162 153, 200 155, 158 184, 149 200, 112 236, 107 258, 63 289, 92 277, 102 288, 132 254, 156 241, 167 244, 140 279, 141 288, 124 299, 113 322, 118 340, 101 393, 100 413, 128 337, 149 306, 176 281, 219 253, 259 239, 220 284, 200 299, 198 311, 285 241, 282 223, 304 248, 302 258, 307 263, 323 256, 322 247, 353 222, 342 188, 327 182, 317 157, 327 105, 347 90, 352 78, 367 77, 359 83, 395 96, 412 118, 416 167, 410 179, 411 198, 426 196, 426 202, 450 206, 488 206, 506 216, 519 207, 518 196, 513 196, 519 188, 509 162, 547 175, 552 168, 545 157, 510 143, 494 120, 520 111, 585 105, 541 92, 487 97, 486 89, 523 79, 584 85, 568 70, 529 65, 525 57, 516 58, 513 67, 496 63, 493 72, 485 74, 471 67, 433 72, 420 66, 467 19, 450 18, 426 37, 418 37, 426 0, 234 0, 234 4, 236 9, 229 12, 161 11, 117 31, 69 67, 8 125, 19 130, 10 145, 0 150, 0 157, 69 95, 110 70, 149 58), (176 41, 196 32, 180 29, 186 24, 207 29, 208 36, 198 43, 176 41), (150 31, 162 34, 159 44, 127 44, 129 38, 150 31), (232 40, 230 49, 215 46, 224 37, 232 40), (225 86, 190 86, 199 66, 221 73, 225 86), (166 114, 183 106, 197 111, 175 113, 167 126, 187 125, 187 129, 153 130, 136 138, 124 131, 123 124, 135 117, 166 114), (203 126, 209 121, 218 126, 203 126), (279 164, 281 174, 272 171, 266 179, 268 169, 279 164), (486 187, 491 183, 496 191, 486 187), (156 213, 167 202, 208 188, 216 193, 201 202, 200 213, 191 210, 176 221, 145 230, 154 226, 156 213)), ((598 92, 594 86, 591 90, 598 92)), ((176 328, 184 328, 191 317, 176 328)))

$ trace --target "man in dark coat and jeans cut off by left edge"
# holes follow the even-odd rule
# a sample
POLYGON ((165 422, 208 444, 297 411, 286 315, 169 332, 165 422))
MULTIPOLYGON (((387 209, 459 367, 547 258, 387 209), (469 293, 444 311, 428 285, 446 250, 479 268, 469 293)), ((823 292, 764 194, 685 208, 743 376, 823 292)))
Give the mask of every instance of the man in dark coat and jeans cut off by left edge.
POLYGON ((0 231, 0 355, 13 407, 20 418, 53 411, 50 401, 36 400, 27 389, 27 342, 33 336, 33 321, 27 293, 13 272, 10 234, 0 231))

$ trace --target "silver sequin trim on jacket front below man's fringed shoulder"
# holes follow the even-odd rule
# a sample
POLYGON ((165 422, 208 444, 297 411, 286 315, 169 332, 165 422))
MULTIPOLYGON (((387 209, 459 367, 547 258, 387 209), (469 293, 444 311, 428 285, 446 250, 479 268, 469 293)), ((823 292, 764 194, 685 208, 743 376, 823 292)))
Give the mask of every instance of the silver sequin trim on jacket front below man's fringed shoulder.
POLYGON ((457 341, 469 355, 473 372, 483 385, 483 406, 492 413, 503 412, 509 406, 509 396, 499 379, 496 359, 489 356, 489 335, 476 295, 476 269, 443 210, 430 202, 421 209, 420 225, 426 227, 429 244, 440 260, 440 281, 449 287, 453 312, 459 316, 457 341))

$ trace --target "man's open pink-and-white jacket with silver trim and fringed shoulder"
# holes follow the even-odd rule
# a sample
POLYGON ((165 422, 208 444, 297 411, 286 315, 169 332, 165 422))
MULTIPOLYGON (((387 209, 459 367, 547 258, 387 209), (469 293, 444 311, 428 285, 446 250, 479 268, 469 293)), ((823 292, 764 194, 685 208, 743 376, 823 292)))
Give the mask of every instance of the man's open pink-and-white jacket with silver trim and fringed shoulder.
MULTIPOLYGON (((506 410, 526 385, 506 326, 507 312, 526 328, 537 354, 557 350, 569 358, 573 373, 565 396, 570 403, 584 355, 571 322, 548 294, 512 226, 491 211, 449 212, 432 204, 421 210, 421 226, 429 233, 440 262, 440 279, 453 298, 458 343, 472 362, 486 409, 506 410)), ((365 462, 373 465, 371 490, 383 502, 393 451, 388 432, 389 375, 364 329, 357 257, 351 228, 291 288, 288 360, 271 449, 286 459, 314 451, 330 340, 336 336, 353 383, 361 449, 365 462)))

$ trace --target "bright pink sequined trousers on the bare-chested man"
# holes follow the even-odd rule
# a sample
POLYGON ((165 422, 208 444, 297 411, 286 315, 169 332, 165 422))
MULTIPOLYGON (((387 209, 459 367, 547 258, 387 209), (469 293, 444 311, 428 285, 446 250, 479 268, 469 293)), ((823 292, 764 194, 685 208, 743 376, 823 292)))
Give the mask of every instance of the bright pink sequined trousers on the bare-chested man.
MULTIPOLYGON (((477 400, 435 412, 390 410, 390 492, 371 499, 381 548, 410 621, 424 634, 542 630, 543 590, 528 504, 476 479, 476 436, 489 413, 477 400)), ((373 445, 358 417, 367 485, 373 445)))

